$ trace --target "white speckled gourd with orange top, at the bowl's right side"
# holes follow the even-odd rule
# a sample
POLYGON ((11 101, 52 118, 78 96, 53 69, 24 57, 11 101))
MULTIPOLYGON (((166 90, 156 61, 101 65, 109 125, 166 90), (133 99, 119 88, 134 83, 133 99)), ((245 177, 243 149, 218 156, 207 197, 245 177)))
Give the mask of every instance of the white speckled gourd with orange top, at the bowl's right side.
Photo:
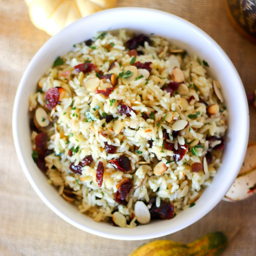
POLYGON ((244 163, 224 201, 235 202, 246 199, 256 193, 256 143, 247 147, 244 163))

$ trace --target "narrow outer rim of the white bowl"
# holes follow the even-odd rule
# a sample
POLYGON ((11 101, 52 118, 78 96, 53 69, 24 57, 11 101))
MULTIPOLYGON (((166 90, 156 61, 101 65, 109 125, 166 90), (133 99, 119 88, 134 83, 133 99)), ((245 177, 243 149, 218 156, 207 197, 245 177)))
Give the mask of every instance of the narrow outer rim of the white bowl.
MULTIPOLYGON (((92 17, 92 16, 96 17, 96 16, 100 16, 102 13, 105 13, 105 12, 110 12, 111 13, 111 12, 117 12, 117 11, 123 11, 123 10, 131 11, 131 12, 134 11, 134 10, 141 10, 141 11, 145 11, 145 12, 155 12, 155 13, 162 14, 162 15, 168 15, 168 16, 171 16, 172 18, 175 18, 177 20, 182 21, 183 23, 186 24, 186 26, 190 26, 191 29, 193 29, 194 31, 199 33, 204 39, 206 39, 206 41, 210 41, 210 43, 219 52, 219 54, 222 56, 222 58, 225 59, 225 62, 227 62, 230 65, 230 67, 233 69, 234 73, 237 76, 236 79, 238 80, 238 83, 240 84, 240 86, 242 87, 242 90, 244 91, 244 95, 243 95, 244 97, 243 98, 244 98, 244 100, 246 100, 246 94, 245 94, 245 90, 244 90, 241 78, 240 78, 234 64, 231 62, 231 60, 229 59, 228 55, 224 52, 224 50, 206 32, 201 30, 199 27, 197 27, 193 23, 191 23, 191 22, 189 22, 189 21, 187 21, 187 20, 185 20, 181 17, 178 17, 174 14, 169 14, 169 13, 164 12, 164 11, 154 10, 154 9, 150 9, 150 8, 142 8, 142 7, 119 7, 119 8, 114 8, 114 9, 107 9, 107 10, 103 10, 103 11, 100 11, 100 12, 96 12, 95 14, 91 14, 89 16, 86 16, 84 18, 81 18, 81 19, 71 23, 69 26, 63 28, 56 35, 58 35, 59 33, 65 33, 66 31, 68 31, 70 29, 70 27, 75 26, 76 23, 81 22, 81 20, 86 20, 88 17, 92 17)), ((53 36, 53 37, 55 37, 55 36, 53 36)), ((99 231, 99 230, 96 230, 96 229, 89 228, 89 227, 87 227, 87 226, 85 226, 81 223, 76 222, 74 219, 69 218, 62 211, 60 211, 56 206, 54 206, 51 202, 49 202, 49 200, 46 198, 46 196, 43 194, 43 192, 38 188, 36 182, 33 180, 32 176, 30 174, 30 171, 28 170, 28 167, 26 165, 26 162, 25 162, 25 160, 23 159, 23 156, 22 156, 22 151, 21 151, 21 146, 20 146, 19 136, 18 136, 18 122, 17 122, 17 113, 18 113, 18 111, 17 110, 18 110, 19 101, 20 101, 20 98, 21 98, 22 84, 25 82, 26 77, 30 74, 29 70, 30 70, 31 66, 33 65, 34 62, 36 63, 37 56, 39 55, 40 52, 44 51, 45 48, 48 48, 50 46, 51 42, 53 41, 53 37, 51 37, 38 50, 38 52, 34 55, 32 60, 30 61, 29 65, 26 68, 25 73, 22 76, 20 84, 18 85, 18 89, 17 89, 17 92, 16 92, 15 101, 14 101, 14 108, 13 108, 13 114, 12 114, 12 130, 13 130, 14 144, 15 144, 15 149, 16 149, 16 152, 17 152, 18 160, 20 161, 21 167, 22 167, 23 171, 25 172, 25 175, 26 175, 28 181, 30 182, 30 184, 32 185, 33 189, 36 191, 38 196, 42 199, 42 201, 51 210, 53 210, 53 212, 55 212, 57 215, 59 215, 59 217, 61 217, 66 222, 70 223, 71 225, 76 226, 77 228, 79 228, 81 230, 84 230, 84 231, 87 231, 91 234, 102 236, 102 237, 105 237, 105 238, 117 239, 117 240, 144 240, 144 239, 158 238, 160 236, 170 234, 170 231, 168 231, 168 229, 165 229, 164 231, 161 231, 161 232, 159 231, 158 233, 152 232, 150 234, 144 234, 144 235, 136 235, 136 234, 134 234, 132 236, 131 235, 117 235, 117 234, 110 234, 110 233, 107 233, 107 232, 104 232, 104 231, 99 231)), ((246 101, 246 105, 247 105, 247 101, 246 101)), ((247 112, 249 113, 248 105, 247 105, 247 112)), ((247 142, 248 142, 248 139, 249 139, 249 115, 247 115, 245 117, 245 119, 246 119, 245 126, 247 125, 247 130, 246 130, 246 134, 244 135, 245 140, 244 140, 244 142, 242 142, 244 144, 241 147, 242 148, 241 152, 244 152, 244 155, 241 154, 240 166, 242 165, 242 162, 244 160, 244 156, 245 156, 246 148, 247 148, 247 142)), ((239 172, 239 169, 237 171, 237 174, 239 172)), ((235 180, 235 177, 234 177, 234 180, 235 180)), ((232 185, 232 183, 230 182, 231 185, 232 185)), ((212 205, 210 207, 208 207, 207 209, 202 209, 202 211, 200 213, 198 213, 196 215, 196 217, 194 217, 193 220, 184 221, 183 225, 180 225, 178 228, 172 230, 171 233, 177 232, 177 231, 179 231, 181 229, 184 229, 187 226, 190 226, 191 224, 197 222, 204 215, 206 215, 208 212, 210 212, 210 210, 212 210, 221 201, 221 199, 222 198, 220 198, 220 196, 218 196, 218 198, 215 199, 214 203, 212 203, 212 205)))

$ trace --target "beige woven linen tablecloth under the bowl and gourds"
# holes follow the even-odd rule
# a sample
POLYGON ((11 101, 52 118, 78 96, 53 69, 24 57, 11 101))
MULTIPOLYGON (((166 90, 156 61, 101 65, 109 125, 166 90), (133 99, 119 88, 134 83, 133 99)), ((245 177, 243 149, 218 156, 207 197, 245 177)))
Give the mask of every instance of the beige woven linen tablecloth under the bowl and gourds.
MULTIPOLYGON (((117 6, 155 8, 194 23, 229 55, 246 91, 256 89, 256 46, 231 27, 224 0, 118 0, 117 6)), ((0 255, 128 255, 144 241, 100 238, 66 223, 37 196, 17 160, 11 129, 16 89, 33 55, 49 38, 30 22, 24 0, 0 0, 0 255)), ((250 140, 255 141, 256 109, 250 109, 250 118, 250 140)), ((239 226, 223 255, 256 255, 255 200, 222 201, 197 223, 162 239, 190 242, 239 226)))

